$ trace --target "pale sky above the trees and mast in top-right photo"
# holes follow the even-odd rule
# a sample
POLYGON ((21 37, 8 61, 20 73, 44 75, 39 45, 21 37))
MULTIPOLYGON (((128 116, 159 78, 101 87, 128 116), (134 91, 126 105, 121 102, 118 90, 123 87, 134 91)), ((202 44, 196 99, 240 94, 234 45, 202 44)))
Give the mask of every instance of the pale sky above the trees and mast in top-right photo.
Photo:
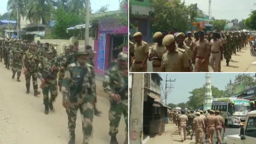
MULTIPOLYGON (((186 5, 197 7, 208 15, 209 0, 185 0, 186 5)), ((256 0, 212 0, 212 16, 215 19, 247 19, 251 10, 256 10, 256 0)))

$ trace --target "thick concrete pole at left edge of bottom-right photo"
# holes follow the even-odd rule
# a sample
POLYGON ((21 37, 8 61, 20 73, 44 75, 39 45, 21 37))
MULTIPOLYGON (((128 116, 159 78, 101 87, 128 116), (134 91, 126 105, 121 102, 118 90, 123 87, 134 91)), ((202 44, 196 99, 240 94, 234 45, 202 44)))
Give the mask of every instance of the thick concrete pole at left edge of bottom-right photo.
POLYGON ((132 90, 130 101, 129 143, 142 144, 143 141, 143 102, 144 73, 132 74, 132 90))

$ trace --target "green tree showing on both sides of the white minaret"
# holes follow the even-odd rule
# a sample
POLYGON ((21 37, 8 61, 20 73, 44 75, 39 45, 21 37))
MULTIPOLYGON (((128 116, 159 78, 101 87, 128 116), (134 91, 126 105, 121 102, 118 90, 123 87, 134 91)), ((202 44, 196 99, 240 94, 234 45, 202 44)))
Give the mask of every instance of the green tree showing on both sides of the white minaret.
MULTIPOLYGON (((214 86, 212 86, 211 89, 213 98, 221 98, 223 96, 223 90, 219 90, 214 86)), ((192 96, 188 97, 188 107, 199 108, 203 104, 205 92, 205 85, 201 88, 195 88, 191 92, 189 92, 190 94, 192 94, 192 96)))

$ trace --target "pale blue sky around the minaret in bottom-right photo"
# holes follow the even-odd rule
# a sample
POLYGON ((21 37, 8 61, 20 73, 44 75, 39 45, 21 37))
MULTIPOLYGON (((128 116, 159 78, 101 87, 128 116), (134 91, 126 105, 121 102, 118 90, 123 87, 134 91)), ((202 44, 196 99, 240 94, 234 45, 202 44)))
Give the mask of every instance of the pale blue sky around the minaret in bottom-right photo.
MULTIPOLYGON (((175 80, 172 82, 172 91, 167 97, 167 104, 178 104, 187 102, 188 97, 192 96, 189 92, 195 88, 201 88, 205 84, 205 73, 160 73, 163 81, 161 82, 165 87, 165 80, 175 80)), ((239 73, 211 73, 211 85, 217 87, 219 90, 225 90, 225 86, 229 83, 230 79, 235 79, 239 73)), ((254 76, 255 73, 250 73, 254 76)), ((170 82, 168 82, 168 87, 170 82)), ((162 94, 163 95, 163 94, 162 94)), ((165 103, 165 100, 163 100, 165 103)))

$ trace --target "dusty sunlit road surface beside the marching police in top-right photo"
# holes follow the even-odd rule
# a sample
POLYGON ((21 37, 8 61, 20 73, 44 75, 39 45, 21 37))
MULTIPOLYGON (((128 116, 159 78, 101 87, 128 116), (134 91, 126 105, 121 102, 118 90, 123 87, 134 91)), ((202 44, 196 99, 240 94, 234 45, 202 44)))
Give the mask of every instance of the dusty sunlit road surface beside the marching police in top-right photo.
MULTIPOLYGON (((222 72, 256 72, 256 65, 251 63, 256 58, 250 55, 250 47, 243 48, 241 52, 237 52, 236 55, 232 55, 232 59, 229 63, 229 67, 226 66, 225 58, 221 61, 222 72)), ((148 72, 152 72, 152 62, 148 61, 148 72)), ((194 65, 193 68, 195 69, 194 65)), ((209 66, 209 71, 213 72, 212 67, 209 66)))

